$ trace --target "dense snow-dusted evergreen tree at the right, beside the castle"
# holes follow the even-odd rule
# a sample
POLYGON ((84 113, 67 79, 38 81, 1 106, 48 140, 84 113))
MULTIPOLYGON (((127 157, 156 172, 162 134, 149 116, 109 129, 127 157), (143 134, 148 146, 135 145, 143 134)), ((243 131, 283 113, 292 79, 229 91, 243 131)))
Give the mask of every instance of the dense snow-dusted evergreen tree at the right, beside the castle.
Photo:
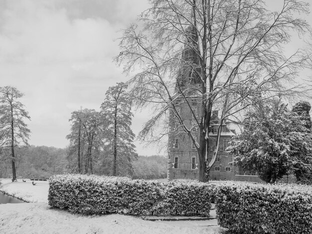
POLYGON ((312 169, 312 135, 297 114, 280 101, 261 105, 249 112, 244 130, 236 135, 227 151, 234 164, 245 171, 258 172, 270 183, 292 172, 300 180, 312 169))

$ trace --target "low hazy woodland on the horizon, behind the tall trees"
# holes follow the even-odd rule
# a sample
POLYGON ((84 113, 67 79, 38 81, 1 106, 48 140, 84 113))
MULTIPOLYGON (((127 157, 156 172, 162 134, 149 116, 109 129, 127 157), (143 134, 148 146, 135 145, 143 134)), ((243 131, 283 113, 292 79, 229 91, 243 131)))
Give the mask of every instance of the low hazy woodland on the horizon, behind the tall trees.
MULTIPOLYGON (((48 179, 54 174, 73 172, 72 169, 75 168, 73 162, 68 160, 69 147, 55 148, 30 145, 28 147, 17 147, 15 152, 17 178, 48 179)), ((138 160, 133 161, 131 166, 133 168, 133 179, 162 179, 167 176, 167 158, 164 156, 138 156, 138 160)), ((96 166, 94 173, 106 175, 103 171, 104 169, 99 170, 96 166)), ((0 178, 11 176, 10 157, 4 151, 0 151, 0 178)))

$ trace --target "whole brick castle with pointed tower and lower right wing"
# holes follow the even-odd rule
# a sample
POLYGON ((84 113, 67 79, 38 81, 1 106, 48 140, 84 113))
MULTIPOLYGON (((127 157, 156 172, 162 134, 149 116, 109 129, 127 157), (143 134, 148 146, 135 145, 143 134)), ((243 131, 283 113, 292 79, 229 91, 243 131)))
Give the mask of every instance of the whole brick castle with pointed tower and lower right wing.
MULTIPOLYGON (((178 107, 177 112, 183 120, 183 124, 192 130, 192 134, 199 137, 198 125, 196 124, 195 114, 197 119, 200 119, 200 96, 196 94, 196 90, 190 88, 201 87, 201 80, 196 75, 196 66, 198 66, 198 56, 195 54, 192 46, 197 41, 196 33, 191 29, 188 31, 189 38, 181 55, 181 60, 186 61, 181 64, 178 78, 175 87, 175 105, 178 107), (190 64, 192 64, 190 66, 190 64), (179 98, 179 94, 183 92, 183 96, 187 98, 179 98)), ((168 170, 167 178, 172 179, 198 179, 198 164, 199 158, 196 147, 191 138, 183 132, 180 122, 177 121, 176 115, 173 112, 170 114, 168 135, 168 170)), ((208 134, 208 161, 212 159, 214 149, 216 147, 216 137, 219 125, 218 111, 214 111, 210 121, 210 131, 208 134)), ((229 165, 234 161, 234 156, 225 152, 229 146, 231 137, 235 135, 235 130, 230 129, 229 123, 222 125, 220 135, 220 147, 213 167, 210 169, 210 180, 239 180, 239 181, 253 181, 260 182, 261 179, 256 175, 245 173, 241 168, 229 165)))

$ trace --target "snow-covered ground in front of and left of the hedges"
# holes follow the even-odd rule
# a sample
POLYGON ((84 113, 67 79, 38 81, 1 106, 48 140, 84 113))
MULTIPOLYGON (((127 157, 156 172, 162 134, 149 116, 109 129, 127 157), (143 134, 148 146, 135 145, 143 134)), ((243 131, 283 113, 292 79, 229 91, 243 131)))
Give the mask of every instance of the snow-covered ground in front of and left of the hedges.
MULTIPOLYGON (((216 219, 205 221, 147 221, 125 215, 82 216, 50 209, 48 183, 0 180, 0 191, 25 201, 0 205, 0 234, 221 234, 216 219)), ((211 212, 215 216, 215 212, 211 212)))

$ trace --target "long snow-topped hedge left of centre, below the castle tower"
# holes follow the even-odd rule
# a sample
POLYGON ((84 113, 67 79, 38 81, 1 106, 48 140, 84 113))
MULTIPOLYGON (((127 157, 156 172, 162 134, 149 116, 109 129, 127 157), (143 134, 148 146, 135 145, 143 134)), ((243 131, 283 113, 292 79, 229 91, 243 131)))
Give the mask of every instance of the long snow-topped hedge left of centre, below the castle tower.
POLYGON ((55 175, 49 205, 80 214, 209 216, 212 189, 193 181, 131 180, 126 177, 55 175))

